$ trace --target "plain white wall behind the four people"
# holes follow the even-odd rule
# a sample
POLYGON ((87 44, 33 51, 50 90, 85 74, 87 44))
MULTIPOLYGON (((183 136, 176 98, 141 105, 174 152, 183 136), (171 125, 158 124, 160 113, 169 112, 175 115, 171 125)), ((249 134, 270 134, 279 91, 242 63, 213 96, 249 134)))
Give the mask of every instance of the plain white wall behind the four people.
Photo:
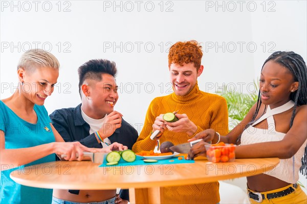
POLYGON ((272 51, 294 50, 306 61, 306 7, 306 1, 1 1, 0 98, 13 93, 16 64, 31 47, 50 50, 61 63, 49 113, 79 104, 77 68, 106 58, 119 70, 115 109, 140 131, 150 101, 169 93, 170 44, 202 43, 202 90, 214 93, 226 83, 248 92, 272 51))

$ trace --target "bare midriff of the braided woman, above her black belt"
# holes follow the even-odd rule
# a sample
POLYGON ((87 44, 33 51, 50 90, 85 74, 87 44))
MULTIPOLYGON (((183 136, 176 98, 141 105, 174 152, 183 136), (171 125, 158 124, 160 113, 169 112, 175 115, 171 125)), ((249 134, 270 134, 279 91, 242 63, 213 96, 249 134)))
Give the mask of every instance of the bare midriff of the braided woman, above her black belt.
POLYGON ((265 191, 271 191, 274 189, 282 188, 290 184, 287 182, 281 181, 273 176, 262 173, 259 175, 247 177, 247 185, 248 185, 248 188, 253 191, 265 192, 265 191))

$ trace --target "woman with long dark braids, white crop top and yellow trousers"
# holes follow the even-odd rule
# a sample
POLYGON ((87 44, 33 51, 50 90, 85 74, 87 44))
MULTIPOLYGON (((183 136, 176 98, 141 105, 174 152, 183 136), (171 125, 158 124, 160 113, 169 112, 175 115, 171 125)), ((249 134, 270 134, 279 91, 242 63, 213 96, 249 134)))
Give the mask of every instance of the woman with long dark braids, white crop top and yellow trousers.
POLYGON ((205 130, 188 158, 206 155, 205 141, 236 143, 236 158, 278 157, 271 171, 247 177, 251 203, 306 203, 297 184, 307 175, 307 68, 294 52, 275 52, 261 69, 257 103, 226 136, 205 130))

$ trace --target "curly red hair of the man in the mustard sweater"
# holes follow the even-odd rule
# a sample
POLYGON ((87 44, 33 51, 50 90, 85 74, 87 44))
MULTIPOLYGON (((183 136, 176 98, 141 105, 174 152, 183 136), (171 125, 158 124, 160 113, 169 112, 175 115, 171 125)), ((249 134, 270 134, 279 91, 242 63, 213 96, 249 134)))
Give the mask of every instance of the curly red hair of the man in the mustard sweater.
POLYGON ((202 46, 196 41, 176 42, 169 48, 168 67, 170 64, 193 63, 196 70, 201 66, 203 57, 202 46))

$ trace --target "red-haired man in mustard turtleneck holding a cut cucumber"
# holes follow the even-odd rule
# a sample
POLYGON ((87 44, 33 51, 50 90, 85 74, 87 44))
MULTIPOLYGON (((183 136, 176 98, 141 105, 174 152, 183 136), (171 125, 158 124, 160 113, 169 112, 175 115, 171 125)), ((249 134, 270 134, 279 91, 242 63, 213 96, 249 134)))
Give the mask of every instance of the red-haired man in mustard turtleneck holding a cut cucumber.
MULTIPOLYGON (((225 98, 199 89, 197 79, 203 72, 202 46, 192 40, 177 42, 170 47, 168 67, 173 93, 153 99, 147 110, 144 127, 133 146, 135 152, 153 150, 157 144, 150 139, 159 130, 160 143, 187 142, 206 129, 222 135, 228 133, 228 111, 225 98), (166 122, 163 114, 178 111, 176 122, 166 122)), ((185 186, 164 187, 164 203, 218 203, 218 182, 185 186)))

